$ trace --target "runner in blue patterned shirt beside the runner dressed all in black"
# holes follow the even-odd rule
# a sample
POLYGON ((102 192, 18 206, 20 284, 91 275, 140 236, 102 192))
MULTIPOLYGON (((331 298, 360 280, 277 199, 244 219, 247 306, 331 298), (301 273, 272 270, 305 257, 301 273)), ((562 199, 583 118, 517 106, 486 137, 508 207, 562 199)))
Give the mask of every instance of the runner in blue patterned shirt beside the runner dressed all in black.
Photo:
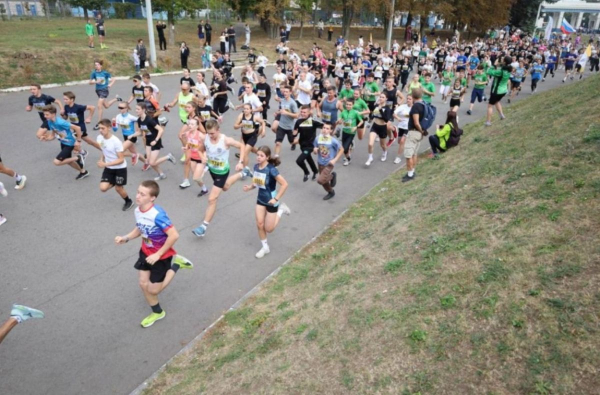
POLYGON ((317 154, 317 163, 319 165, 319 178, 317 182, 327 191, 323 200, 329 200, 335 196, 333 189, 337 184, 337 173, 333 171, 336 162, 344 154, 340 142, 331 135, 332 127, 326 123, 321 129, 321 134, 317 136, 313 144, 313 152, 317 154))

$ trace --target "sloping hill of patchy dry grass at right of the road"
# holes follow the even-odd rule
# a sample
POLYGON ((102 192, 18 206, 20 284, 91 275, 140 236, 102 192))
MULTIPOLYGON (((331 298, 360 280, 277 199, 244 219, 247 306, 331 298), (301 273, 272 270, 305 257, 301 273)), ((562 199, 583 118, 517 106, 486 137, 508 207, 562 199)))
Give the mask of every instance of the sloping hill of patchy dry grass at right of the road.
POLYGON ((598 92, 536 95, 392 175, 146 392, 597 393, 598 92))

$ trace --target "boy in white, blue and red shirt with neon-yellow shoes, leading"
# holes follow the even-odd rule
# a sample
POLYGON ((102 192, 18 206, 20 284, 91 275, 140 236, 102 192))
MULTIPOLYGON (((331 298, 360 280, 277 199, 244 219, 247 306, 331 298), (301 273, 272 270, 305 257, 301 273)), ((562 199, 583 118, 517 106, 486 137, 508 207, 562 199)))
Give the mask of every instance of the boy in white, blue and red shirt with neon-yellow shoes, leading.
POLYGON ((156 182, 142 182, 135 197, 138 205, 135 209, 136 226, 127 235, 115 237, 116 244, 125 244, 142 236, 142 248, 133 267, 139 271, 140 288, 152 309, 152 313, 141 322, 144 328, 165 318, 166 312, 160 307, 158 295, 171 283, 177 271, 194 267, 189 260, 176 255, 173 249, 179 233, 165 210, 154 204, 159 193, 160 187, 156 182))

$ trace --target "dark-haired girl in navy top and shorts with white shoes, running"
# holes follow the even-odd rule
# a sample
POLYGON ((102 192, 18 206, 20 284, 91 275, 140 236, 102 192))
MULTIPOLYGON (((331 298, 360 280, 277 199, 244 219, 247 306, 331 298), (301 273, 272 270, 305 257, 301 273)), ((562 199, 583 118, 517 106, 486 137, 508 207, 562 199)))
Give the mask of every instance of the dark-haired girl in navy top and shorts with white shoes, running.
POLYGON ((258 259, 271 252, 267 242, 267 233, 275 230, 283 214, 290 215, 291 213, 287 204, 279 203, 288 187, 287 181, 277 169, 280 163, 279 158, 271 157, 269 147, 266 145, 260 147, 256 154, 252 184, 244 185, 245 192, 258 188, 255 209, 256 227, 262 244, 261 249, 255 255, 258 259), (279 191, 277 191, 277 184, 281 186, 279 191))

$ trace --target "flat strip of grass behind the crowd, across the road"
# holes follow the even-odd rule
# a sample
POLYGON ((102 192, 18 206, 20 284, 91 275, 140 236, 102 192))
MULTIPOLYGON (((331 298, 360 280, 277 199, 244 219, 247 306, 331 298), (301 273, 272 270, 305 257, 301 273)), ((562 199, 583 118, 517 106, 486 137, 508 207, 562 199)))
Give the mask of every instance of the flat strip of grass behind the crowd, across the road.
MULTIPOLYGON (((177 45, 168 46, 168 51, 157 52, 158 64, 153 72, 180 70, 179 43, 185 41, 191 55, 188 65, 192 69, 201 68, 200 48, 196 35, 198 21, 182 20, 176 24, 177 45)), ((26 86, 32 82, 40 84, 64 83, 89 78, 96 59, 103 59, 106 69, 113 75, 133 75, 132 51, 139 38, 148 47, 148 33, 145 20, 110 19, 106 22, 108 49, 101 50, 96 36, 96 48, 87 47, 85 21, 77 18, 56 18, 18 20, 0 23, 0 89, 26 86)), ((213 51, 218 49, 218 35, 223 26, 213 24, 213 51)), ((333 51, 333 43, 318 39, 311 27, 304 28, 303 38, 298 38, 300 29, 294 27, 290 36, 291 47, 298 53, 309 53, 313 42, 323 46, 326 52, 333 51)), ((356 43, 359 35, 384 42, 382 29, 353 28, 350 40, 356 43)), ((326 34, 326 33, 325 33, 326 34)), ((334 38, 340 34, 340 27, 334 30, 334 38)), ((155 32, 156 36, 156 32, 155 32)), ((396 29, 395 36, 403 36, 403 30, 396 29)), ((167 37, 168 39, 168 37, 167 37)), ((158 38, 157 38, 158 40, 158 38)), ((244 37, 238 37, 238 46, 244 37)), ((258 25, 252 26, 252 47, 264 51, 274 62, 277 59, 277 40, 270 40, 258 25)), ((399 41, 400 42, 400 41, 399 41)), ((158 42, 157 42, 158 50, 158 42)), ((148 48, 148 57, 150 49, 148 48)), ((243 55, 241 56, 243 58, 243 55)), ((246 60, 243 59, 243 64, 246 60)), ((238 64, 240 64, 238 62, 238 64)))

